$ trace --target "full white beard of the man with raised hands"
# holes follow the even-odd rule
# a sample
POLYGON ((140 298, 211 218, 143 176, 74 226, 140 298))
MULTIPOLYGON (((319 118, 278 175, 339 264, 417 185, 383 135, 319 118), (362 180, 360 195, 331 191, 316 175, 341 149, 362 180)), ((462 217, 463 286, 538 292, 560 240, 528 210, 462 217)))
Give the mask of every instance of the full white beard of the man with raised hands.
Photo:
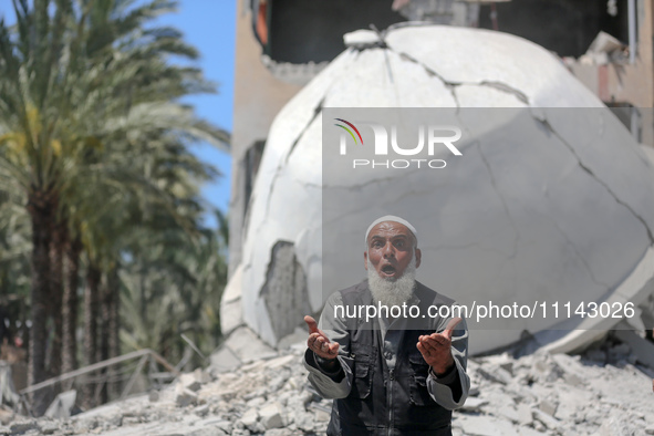
POLYGON ((373 301, 391 308, 402 307, 413 295, 416 282, 416 258, 411 260, 401 278, 390 280, 381 277, 367 260, 367 284, 373 294, 373 301))

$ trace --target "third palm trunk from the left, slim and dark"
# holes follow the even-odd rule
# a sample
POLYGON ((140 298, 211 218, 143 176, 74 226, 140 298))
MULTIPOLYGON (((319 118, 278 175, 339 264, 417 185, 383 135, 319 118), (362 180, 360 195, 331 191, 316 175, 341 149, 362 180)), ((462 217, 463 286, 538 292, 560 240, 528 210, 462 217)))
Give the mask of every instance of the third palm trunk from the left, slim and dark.
MULTIPOLYGON (((97 294, 100 288, 101 271, 93 262, 89 262, 86 269, 86 289, 84 292, 84 349, 85 364, 91 365, 97 357, 97 294)), ((92 374, 94 376, 95 374, 92 374)), ((84 405, 93 407, 94 386, 84 386, 84 405)))

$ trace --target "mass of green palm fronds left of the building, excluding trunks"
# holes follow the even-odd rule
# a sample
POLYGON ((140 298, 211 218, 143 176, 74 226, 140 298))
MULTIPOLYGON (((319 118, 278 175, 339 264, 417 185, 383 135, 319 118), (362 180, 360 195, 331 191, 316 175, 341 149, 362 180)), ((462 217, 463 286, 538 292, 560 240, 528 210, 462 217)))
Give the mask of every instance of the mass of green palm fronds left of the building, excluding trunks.
POLYGON ((229 142, 179 102, 216 89, 170 62, 198 56, 179 31, 149 27, 175 7, 17 0, 15 25, 0 19, 0 289, 33 287, 31 235, 43 229, 25 205, 45 198, 85 258, 104 273, 118 268, 126 347, 170 359, 180 333, 206 352, 220 333, 227 224, 199 224, 199 186, 219 173, 188 145, 229 142))

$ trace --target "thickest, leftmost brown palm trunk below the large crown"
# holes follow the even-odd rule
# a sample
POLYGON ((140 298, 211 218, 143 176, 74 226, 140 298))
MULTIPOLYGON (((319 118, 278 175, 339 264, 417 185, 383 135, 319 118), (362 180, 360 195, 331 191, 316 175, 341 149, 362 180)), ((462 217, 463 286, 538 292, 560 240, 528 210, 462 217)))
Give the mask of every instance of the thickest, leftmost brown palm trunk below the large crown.
MULTIPOLYGON (((32 220, 32 328, 30 333, 30 357, 28 384, 32 385, 46 378, 45 344, 48 332, 48 297, 50 295, 50 245, 52 241, 51 222, 54 218, 55 201, 52 193, 35 190, 29 193, 27 209, 32 220)), ((33 406, 39 413, 43 408, 42 393, 37 392, 33 406)))

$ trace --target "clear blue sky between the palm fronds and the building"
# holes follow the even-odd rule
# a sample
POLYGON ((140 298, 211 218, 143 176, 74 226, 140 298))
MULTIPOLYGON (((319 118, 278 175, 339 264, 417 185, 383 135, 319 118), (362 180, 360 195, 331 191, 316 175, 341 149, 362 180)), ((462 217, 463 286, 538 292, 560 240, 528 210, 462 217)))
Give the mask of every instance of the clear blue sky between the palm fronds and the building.
MULTIPOLYGON (((1 15, 10 23, 15 20, 11 0, 0 0, 1 15)), ((194 95, 186 97, 184 102, 194 105, 200 117, 231 133, 236 1, 179 0, 176 13, 159 17, 155 24, 175 27, 184 33, 187 43, 199 50, 200 59, 196 66, 203 69, 206 79, 218 84, 218 94, 194 95)), ((203 197, 227 212, 231 179, 230 155, 209 144, 197 144, 191 149, 222 174, 220 178, 203 187, 203 197)), ((215 226, 215 219, 208 216, 206 225, 215 226)))

